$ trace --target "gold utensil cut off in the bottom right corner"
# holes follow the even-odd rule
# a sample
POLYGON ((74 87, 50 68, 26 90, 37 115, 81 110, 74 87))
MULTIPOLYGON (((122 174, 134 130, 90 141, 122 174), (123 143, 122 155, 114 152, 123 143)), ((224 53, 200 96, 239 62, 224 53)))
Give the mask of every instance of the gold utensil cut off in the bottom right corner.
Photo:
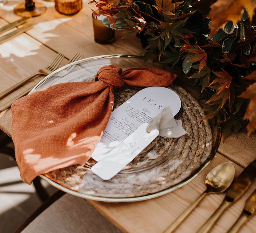
POLYGON ((256 211, 256 189, 254 192, 248 197, 245 202, 244 209, 234 223, 234 225, 229 229, 228 233, 236 233, 240 230, 240 228, 255 214, 256 211))

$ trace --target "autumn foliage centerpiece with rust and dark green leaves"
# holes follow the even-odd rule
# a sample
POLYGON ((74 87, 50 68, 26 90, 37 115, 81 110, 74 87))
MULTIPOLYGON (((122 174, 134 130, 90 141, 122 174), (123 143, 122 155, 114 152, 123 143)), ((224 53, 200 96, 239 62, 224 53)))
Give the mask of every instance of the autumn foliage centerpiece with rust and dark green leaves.
POLYGON ((144 40, 145 60, 180 65, 224 136, 256 129, 256 0, 92 0, 104 24, 144 40))

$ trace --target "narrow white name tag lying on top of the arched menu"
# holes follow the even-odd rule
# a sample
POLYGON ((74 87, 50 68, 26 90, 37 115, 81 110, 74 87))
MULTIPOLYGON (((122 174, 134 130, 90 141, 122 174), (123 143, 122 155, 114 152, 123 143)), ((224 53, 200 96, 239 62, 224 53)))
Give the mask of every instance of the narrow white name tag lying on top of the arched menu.
POLYGON ((92 166, 92 172, 103 180, 109 180, 131 162, 159 134, 158 129, 147 132, 148 123, 140 125, 107 156, 92 166))

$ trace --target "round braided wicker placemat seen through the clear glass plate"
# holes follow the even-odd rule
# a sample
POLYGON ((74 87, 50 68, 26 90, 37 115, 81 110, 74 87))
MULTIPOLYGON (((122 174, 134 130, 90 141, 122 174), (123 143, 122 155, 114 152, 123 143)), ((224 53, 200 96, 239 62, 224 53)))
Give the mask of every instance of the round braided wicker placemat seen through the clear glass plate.
MULTIPOLYGON (((89 81, 89 80, 88 80, 89 81)), ((69 166, 44 174, 55 182, 83 194, 101 197, 138 197, 162 191, 195 173, 212 150, 212 130, 198 102, 179 86, 169 87, 181 99, 175 116, 187 134, 179 138, 158 136, 119 174, 104 181, 93 174, 90 159, 82 166, 69 166)), ((124 86, 115 90, 117 108, 142 88, 124 86)), ((172 100, 170 100, 172 101, 172 100)))

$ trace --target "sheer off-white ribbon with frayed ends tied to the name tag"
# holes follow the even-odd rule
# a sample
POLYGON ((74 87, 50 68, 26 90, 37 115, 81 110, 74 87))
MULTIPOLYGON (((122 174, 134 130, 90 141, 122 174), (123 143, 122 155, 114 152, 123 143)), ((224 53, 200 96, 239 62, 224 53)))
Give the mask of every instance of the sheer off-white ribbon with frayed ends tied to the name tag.
POLYGON ((161 113, 148 122, 147 132, 159 130, 159 135, 164 137, 181 137, 187 132, 182 127, 181 120, 175 120, 170 106, 165 107, 161 113))

